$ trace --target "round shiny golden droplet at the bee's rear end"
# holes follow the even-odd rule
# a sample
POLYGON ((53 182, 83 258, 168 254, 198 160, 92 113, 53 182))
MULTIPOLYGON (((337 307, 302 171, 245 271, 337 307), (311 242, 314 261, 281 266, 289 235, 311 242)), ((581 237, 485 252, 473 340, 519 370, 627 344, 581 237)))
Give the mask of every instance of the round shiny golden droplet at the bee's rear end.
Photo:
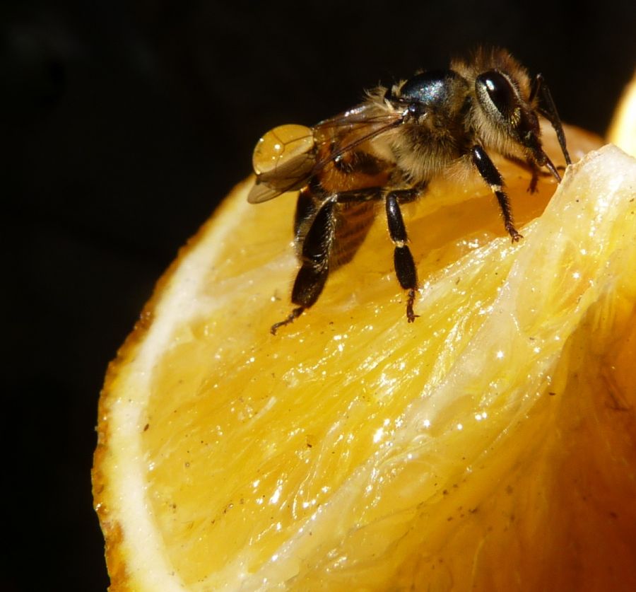
POLYGON ((254 149, 254 172, 257 175, 274 173, 295 157, 307 154, 313 147, 314 137, 309 127, 295 124, 275 127, 259 139, 254 149))

